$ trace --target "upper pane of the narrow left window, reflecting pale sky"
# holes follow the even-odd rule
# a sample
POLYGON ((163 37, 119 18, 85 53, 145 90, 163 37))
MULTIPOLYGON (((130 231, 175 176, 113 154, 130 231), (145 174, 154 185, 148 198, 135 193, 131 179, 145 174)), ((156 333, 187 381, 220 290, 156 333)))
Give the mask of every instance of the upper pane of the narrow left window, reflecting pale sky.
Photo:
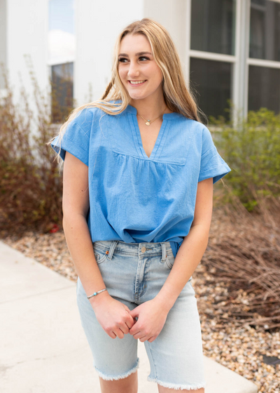
POLYGON ((49 0, 48 60, 54 63, 73 61, 76 51, 74 1, 49 0))

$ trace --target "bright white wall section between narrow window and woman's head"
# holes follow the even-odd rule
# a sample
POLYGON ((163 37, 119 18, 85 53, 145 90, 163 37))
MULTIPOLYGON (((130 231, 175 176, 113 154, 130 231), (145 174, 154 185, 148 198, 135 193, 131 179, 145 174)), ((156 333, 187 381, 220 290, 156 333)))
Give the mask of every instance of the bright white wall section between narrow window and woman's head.
POLYGON ((77 51, 74 63, 74 98, 77 105, 98 100, 111 76, 113 46, 120 31, 144 18, 144 0, 76 1, 77 51))

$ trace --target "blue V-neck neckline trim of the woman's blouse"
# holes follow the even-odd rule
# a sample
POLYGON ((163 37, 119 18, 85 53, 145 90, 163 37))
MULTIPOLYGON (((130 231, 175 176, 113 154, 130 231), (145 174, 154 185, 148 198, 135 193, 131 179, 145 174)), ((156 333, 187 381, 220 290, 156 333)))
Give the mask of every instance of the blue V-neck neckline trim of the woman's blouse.
POLYGON ((160 152, 162 150, 162 147, 164 145, 164 142, 165 142, 165 139, 167 136, 167 134, 165 133, 165 131, 167 129, 167 120, 174 119, 176 116, 178 116, 180 114, 174 112, 174 113, 165 113, 162 115, 162 125, 160 126, 158 138, 155 141, 155 145, 153 147, 153 150, 152 150, 150 156, 148 157, 148 155, 146 154, 144 147, 143 147, 141 132, 140 132, 139 124, 137 121, 137 109, 135 107, 132 107, 132 105, 127 105, 127 112, 130 112, 132 114, 132 122, 134 125, 134 133, 137 136, 137 144, 136 145, 139 150, 139 155, 148 161, 153 161, 153 159, 157 159, 160 156, 160 152), (160 147, 161 147, 161 149, 160 149, 160 147))

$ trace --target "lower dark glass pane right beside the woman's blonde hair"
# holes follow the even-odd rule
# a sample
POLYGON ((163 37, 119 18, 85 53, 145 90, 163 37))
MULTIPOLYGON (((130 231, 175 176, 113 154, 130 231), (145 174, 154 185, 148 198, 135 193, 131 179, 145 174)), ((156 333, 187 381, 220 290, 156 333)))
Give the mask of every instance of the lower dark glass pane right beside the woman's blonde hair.
POLYGON ((221 115, 230 120, 224 109, 230 107, 227 100, 232 99, 231 63, 191 58, 190 86, 197 91, 197 104, 207 117, 221 115))

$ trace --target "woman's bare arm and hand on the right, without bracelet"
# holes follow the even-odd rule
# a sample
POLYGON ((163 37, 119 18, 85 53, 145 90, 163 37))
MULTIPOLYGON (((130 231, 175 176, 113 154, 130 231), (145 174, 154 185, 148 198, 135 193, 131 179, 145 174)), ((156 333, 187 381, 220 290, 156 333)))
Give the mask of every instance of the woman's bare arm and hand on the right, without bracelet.
POLYGON ((130 334, 140 341, 152 342, 160 334, 172 308, 207 248, 213 209, 213 178, 198 182, 195 215, 188 236, 183 239, 173 267, 158 295, 130 312, 139 315, 130 334), (145 333, 145 334, 144 334, 145 333))

